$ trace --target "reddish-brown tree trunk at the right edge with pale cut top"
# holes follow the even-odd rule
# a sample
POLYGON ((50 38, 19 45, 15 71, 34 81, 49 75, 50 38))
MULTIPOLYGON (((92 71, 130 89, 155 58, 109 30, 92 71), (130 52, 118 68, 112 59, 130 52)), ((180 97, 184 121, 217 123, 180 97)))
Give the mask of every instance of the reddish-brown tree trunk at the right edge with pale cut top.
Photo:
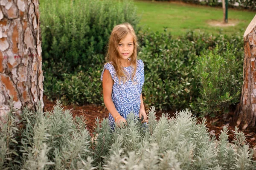
POLYGON ((256 15, 244 32, 244 82, 236 108, 237 125, 243 130, 256 121, 256 15))

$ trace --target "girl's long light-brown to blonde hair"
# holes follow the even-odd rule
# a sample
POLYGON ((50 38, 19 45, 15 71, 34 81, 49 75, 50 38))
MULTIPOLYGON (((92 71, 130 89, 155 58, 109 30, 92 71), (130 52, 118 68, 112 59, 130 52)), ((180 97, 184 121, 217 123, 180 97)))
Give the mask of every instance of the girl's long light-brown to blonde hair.
POLYGON ((119 79, 119 83, 121 79, 123 82, 126 82, 128 75, 124 74, 126 71, 124 70, 121 64, 121 60, 120 60, 121 56, 119 54, 118 44, 128 34, 131 34, 134 39, 134 51, 130 57, 131 66, 134 68, 131 79, 134 82, 134 76, 137 69, 137 48, 139 47, 134 28, 129 23, 116 25, 111 32, 109 42, 108 42, 108 53, 106 56, 106 61, 111 62, 111 64, 114 66, 116 70, 116 76, 119 79))

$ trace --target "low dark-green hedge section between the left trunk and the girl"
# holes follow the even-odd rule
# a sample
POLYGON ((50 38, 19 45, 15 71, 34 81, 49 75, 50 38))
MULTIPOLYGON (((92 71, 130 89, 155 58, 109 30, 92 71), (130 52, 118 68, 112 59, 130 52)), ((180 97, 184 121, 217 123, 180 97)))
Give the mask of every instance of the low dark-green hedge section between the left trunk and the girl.
POLYGON ((44 76, 44 94, 49 99, 61 99, 64 104, 102 104, 102 82, 100 81, 102 65, 88 68, 87 71, 77 68, 72 74, 61 74, 57 79, 50 71, 44 76))

